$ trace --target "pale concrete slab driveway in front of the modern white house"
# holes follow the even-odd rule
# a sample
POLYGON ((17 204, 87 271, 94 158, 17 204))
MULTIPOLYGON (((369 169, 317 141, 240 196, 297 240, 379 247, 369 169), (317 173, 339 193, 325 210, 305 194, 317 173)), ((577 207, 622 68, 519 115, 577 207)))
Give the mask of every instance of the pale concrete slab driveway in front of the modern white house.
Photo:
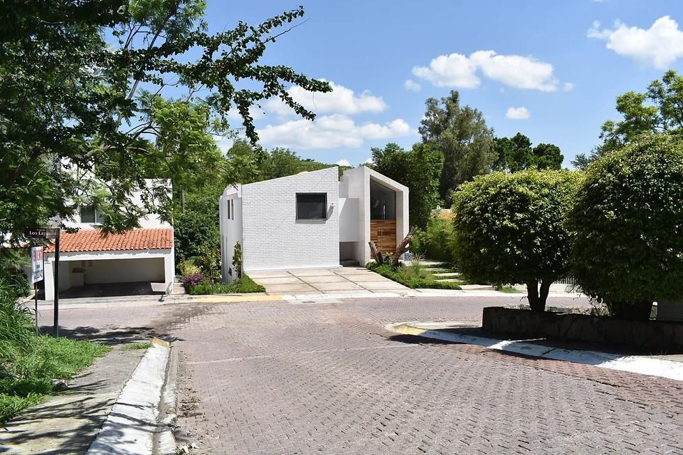
POLYGON ((267 270, 249 277, 269 294, 397 293, 410 288, 362 267, 267 270))

